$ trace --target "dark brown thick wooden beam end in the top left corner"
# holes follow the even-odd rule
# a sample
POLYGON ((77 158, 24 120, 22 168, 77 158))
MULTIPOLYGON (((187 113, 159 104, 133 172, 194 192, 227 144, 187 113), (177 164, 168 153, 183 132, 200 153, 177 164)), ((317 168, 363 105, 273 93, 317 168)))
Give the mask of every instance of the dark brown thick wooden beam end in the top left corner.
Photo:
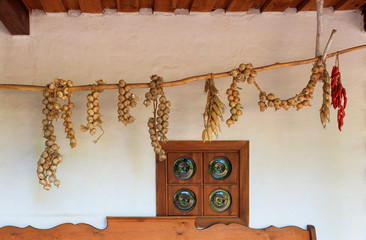
POLYGON ((29 35, 29 12, 21 0, 0 0, 0 21, 12 35, 29 35))

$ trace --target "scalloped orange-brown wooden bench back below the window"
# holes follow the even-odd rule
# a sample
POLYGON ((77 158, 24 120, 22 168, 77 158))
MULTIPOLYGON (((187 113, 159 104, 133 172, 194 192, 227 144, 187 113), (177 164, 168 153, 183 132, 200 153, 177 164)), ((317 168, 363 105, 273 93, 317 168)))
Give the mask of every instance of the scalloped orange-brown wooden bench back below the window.
POLYGON ((316 240, 315 228, 295 226, 253 229, 239 224, 216 224, 204 230, 195 228, 195 217, 107 217, 108 226, 97 229, 87 224, 66 223, 51 229, 33 227, 0 228, 1 240, 316 240))

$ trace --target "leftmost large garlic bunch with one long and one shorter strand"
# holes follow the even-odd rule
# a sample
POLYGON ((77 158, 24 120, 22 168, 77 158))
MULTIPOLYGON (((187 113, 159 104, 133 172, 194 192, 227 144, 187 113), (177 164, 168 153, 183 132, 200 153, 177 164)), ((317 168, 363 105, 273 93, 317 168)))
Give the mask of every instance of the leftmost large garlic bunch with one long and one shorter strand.
POLYGON ((55 79, 54 82, 47 84, 43 91, 44 99, 42 103, 45 105, 42 113, 46 116, 42 120, 45 150, 43 151, 37 167, 37 174, 39 183, 43 185, 45 190, 51 189, 51 183, 55 186, 60 185, 60 181, 56 178, 56 170, 58 164, 62 161, 62 155, 59 153, 59 146, 56 144, 56 136, 54 135, 53 120, 57 120, 60 115, 64 118, 65 132, 67 138, 70 139, 70 146, 73 148, 76 146, 75 132, 72 128, 71 122, 71 109, 74 104, 70 101, 72 93, 70 87, 73 86, 72 81, 66 81, 61 79, 55 79), (68 104, 61 105, 57 102, 57 99, 68 99, 68 104))

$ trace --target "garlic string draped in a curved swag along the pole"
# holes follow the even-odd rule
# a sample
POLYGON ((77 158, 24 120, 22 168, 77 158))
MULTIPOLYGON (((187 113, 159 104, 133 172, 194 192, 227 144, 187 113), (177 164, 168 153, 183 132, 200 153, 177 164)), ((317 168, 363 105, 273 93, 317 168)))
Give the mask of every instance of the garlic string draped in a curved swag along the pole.
POLYGON ((273 107, 275 110, 283 108, 287 111, 290 107, 295 107, 297 110, 300 110, 303 107, 311 106, 310 99, 313 98, 314 87, 316 86, 317 80, 321 78, 324 69, 325 68, 322 65, 315 65, 312 68, 312 74, 306 87, 303 88, 302 91, 296 96, 286 100, 276 98, 273 93, 269 93, 267 95, 266 92, 263 92, 260 88, 258 88, 260 91, 258 102, 260 111, 265 111, 267 107, 273 107))

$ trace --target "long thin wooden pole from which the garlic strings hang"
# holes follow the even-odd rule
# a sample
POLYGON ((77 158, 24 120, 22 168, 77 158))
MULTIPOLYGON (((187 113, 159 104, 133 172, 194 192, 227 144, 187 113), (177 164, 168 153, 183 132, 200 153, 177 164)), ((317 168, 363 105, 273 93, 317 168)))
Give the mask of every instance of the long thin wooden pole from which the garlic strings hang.
MULTIPOLYGON (((357 46, 357 47, 344 49, 344 50, 341 50, 341 51, 338 51, 338 52, 333 52, 333 53, 327 54, 326 58, 331 58, 331 57, 334 57, 336 55, 340 55, 340 54, 344 54, 344 53, 348 53, 348 52, 352 52, 352 51, 357 51, 357 50, 361 50, 361 49, 365 49, 365 48, 366 48, 366 44, 365 45, 360 45, 360 46, 357 46)), ((299 61, 292 61, 292 62, 285 62, 285 63, 274 63, 274 64, 271 64, 271 65, 257 67, 257 68, 254 68, 254 69, 257 72, 262 72, 262 71, 275 69, 275 68, 282 68, 282 67, 290 67, 290 66, 308 64, 308 63, 315 62, 318 59, 319 58, 316 57, 316 58, 310 58, 310 59, 299 60, 299 61)), ((223 78, 223 77, 229 77, 229 76, 230 76, 230 71, 213 74, 213 77, 215 79, 223 78)), ((211 74, 193 76, 193 77, 188 77, 188 78, 175 80, 175 81, 171 81, 171 82, 165 82, 163 86, 164 87, 179 86, 179 85, 187 84, 187 83, 190 83, 190 82, 207 80, 210 77, 211 77, 211 74)), ((149 88, 148 83, 133 83, 133 84, 128 84, 128 85, 131 86, 131 88, 149 88)), ((75 86, 75 87, 71 88, 71 91, 73 91, 73 92, 90 91, 92 89, 92 86, 94 86, 94 85, 75 86)), ((118 89, 118 88, 119 88, 118 84, 104 84, 104 85, 95 86, 96 90, 118 89)), ((22 84, 0 84, 0 90, 43 91, 44 89, 45 89, 44 86, 22 85, 22 84)))

